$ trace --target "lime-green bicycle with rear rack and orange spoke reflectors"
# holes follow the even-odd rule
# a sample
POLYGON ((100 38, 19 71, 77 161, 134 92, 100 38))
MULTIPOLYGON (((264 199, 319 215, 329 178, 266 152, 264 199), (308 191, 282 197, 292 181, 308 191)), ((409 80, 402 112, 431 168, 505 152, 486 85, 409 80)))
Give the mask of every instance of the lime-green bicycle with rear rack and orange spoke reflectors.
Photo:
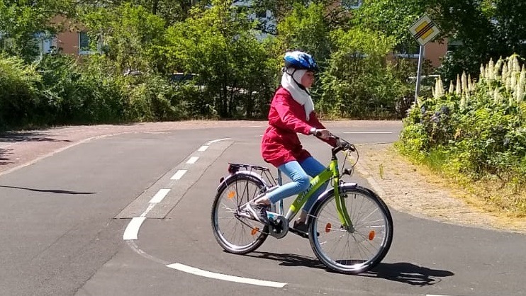
MULTIPOLYGON (((310 187, 298 195, 286 215, 283 203, 272 205, 267 211, 268 224, 252 220, 240 209, 277 188, 276 179, 266 167, 230 163, 229 175, 220 180, 211 212, 213 234, 220 246, 233 254, 247 254, 259 248, 269 234, 281 239, 290 230, 308 238, 316 257, 332 271, 357 274, 380 263, 393 240, 391 212, 372 190, 342 181, 342 176, 352 175, 359 157, 353 144, 336 138, 338 145, 332 148, 327 169, 310 181, 310 187), (345 152, 345 159, 356 154, 354 164, 350 169, 342 167, 341 173, 339 152, 345 152), (308 234, 289 229, 289 222, 310 195, 328 181, 332 188, 328 186, 308 213, 308 234)), ((281 179, 277 181, 281 184, 281 179)))

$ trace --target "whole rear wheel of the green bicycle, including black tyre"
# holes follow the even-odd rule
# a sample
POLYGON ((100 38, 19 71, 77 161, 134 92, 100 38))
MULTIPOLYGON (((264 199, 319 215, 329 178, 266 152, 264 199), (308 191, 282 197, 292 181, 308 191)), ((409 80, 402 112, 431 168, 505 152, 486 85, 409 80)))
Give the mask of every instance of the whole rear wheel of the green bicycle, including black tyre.
POLYGON ((240 173, 221 184, 213 202, 211 222, 220 246, 233 254, 250 253, 267 239, 268 227, 236 215, 241 205, 255 198, 264 188, 258 178, 240 173))

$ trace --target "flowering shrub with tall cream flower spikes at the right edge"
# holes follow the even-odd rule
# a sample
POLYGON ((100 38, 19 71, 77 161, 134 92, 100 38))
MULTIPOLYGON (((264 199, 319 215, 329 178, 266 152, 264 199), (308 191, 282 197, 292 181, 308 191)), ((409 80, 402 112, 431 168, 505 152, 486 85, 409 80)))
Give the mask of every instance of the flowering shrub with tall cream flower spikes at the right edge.
POLYGON ((523 192, 526 69, 519 59, 491 61, 481 67, 479 81, 462 74, 448 90, 437 79, 434 96, 419 101, 403 120, 401 151, 427 164, 442 155, 440 171, 472 181, 498 180, 523 192))

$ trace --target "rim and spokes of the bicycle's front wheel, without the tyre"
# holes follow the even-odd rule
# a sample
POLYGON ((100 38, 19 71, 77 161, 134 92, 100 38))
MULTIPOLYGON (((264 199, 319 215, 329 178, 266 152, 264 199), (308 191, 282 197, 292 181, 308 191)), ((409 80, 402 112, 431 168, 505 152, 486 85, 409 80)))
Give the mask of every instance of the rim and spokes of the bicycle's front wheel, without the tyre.
POLYGON ((313 225, 319 233, 313 237, 318 257, 330 268, 360 272, 378 263, 390 241, 389 220, 375 200, 362 193, 344 193, 342 198, 353 225, 343 227, 337 215, 334 197, 324 203, 313 225))

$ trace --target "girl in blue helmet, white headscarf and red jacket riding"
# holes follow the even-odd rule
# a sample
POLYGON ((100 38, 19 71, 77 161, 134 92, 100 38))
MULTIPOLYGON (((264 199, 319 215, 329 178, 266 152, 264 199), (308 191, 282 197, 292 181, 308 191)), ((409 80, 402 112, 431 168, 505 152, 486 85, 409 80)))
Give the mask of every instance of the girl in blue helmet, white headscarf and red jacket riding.
MULTIPOLYGON (((314 104, 310 98, 309 89, 314 82, 314 73, 318 64, 306 52, 286 52, 285 67, 281 76, 281 86, 274 93, 269 110, 269 127, 265 130, 261 153, 263 159, 285 173, 292 182, 286 183, 276 190, 248 203, 247 212, 255 220, 267 223, 267 209, 271 203, 307 190, 310 185, 309 176, 321 173, 325 166, 303 149, 297 133, 317 135, 318 138, 336 146, 336 140, 330 137, 330 132, 320 123, 314 112, 314 104)), ((306 233, 307 213, 313 206, 318 195, 325 190, 322 186, 306 202, 293 228, 306 233)))

